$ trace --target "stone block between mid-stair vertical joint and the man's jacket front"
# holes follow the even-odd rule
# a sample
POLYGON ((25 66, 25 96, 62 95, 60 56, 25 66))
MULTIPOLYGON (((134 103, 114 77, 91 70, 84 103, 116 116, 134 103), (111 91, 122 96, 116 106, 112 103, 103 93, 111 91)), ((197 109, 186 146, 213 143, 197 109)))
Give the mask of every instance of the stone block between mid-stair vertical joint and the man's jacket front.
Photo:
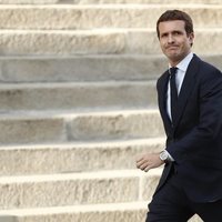
POLYGON ((160 114, 155 110, 82 114, 70 122, 70 140, 135 139, 163 135, 160 114))

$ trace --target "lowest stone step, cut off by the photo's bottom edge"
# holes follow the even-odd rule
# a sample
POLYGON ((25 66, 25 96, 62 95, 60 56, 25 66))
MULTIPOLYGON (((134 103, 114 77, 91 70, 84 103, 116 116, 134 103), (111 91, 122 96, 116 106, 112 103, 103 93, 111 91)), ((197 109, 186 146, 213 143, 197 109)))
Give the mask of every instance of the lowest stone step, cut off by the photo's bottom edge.
MULTIPOLYGON (((147 212, 148 201, 38 208, 1 211, 0 222, 141 222, 145 221, 147 212)), ((202 220, 194 215, 189 222, 202 220)))

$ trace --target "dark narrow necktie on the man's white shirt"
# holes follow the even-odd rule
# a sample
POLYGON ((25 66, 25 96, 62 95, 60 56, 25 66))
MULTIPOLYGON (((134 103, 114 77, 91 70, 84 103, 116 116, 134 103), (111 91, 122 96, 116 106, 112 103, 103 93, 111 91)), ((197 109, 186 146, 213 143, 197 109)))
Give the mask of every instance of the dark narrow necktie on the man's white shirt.
POLYGON ((176 89, 176 84, 175 84, 176 70, 178 70, 176 67, 170 68, 171 117, 172 117, 172 122, 175 121, 176 105, 178 105, 178 89, 176 89))

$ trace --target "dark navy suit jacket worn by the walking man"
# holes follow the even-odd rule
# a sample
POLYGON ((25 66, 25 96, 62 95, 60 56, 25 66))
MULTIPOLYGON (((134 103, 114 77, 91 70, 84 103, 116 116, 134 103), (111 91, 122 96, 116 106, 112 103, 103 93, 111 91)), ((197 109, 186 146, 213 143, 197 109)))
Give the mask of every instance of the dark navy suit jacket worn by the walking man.
POLYGON ((179 94, 175 122, 167 113, 169 74, 158 80, 159 109, 167 134, 167 163, 157 191, 172 167, 188 196, 195 202, 222 199, 222 73, 193 56, 179 94))

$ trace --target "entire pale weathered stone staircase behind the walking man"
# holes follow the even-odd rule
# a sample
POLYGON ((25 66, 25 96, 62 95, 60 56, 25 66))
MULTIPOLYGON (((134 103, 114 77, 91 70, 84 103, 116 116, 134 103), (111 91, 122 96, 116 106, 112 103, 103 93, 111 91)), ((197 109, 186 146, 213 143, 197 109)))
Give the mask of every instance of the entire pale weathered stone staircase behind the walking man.
POLYGON ((144 221, 161 169, 134 160, 164 144, 155 21, 173 8, 222 69, 221 0, 0 0, 0 222, 144 221))

